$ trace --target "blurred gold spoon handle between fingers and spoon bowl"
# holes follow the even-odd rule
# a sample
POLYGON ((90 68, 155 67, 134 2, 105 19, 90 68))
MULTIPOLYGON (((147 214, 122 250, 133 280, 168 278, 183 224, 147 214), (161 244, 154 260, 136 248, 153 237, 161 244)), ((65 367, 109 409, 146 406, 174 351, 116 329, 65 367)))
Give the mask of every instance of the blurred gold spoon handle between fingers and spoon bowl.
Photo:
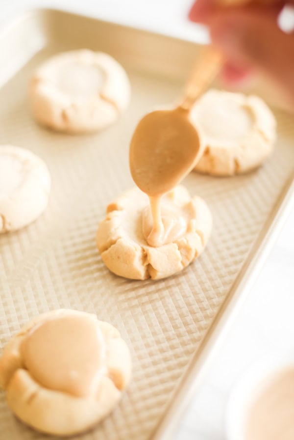
POLYGON ((191 110, 199 96, 213 82, 221 70, 223 57, 221 51, 209 46, 192 71, 192 75, 185 86, 184 97, 179 107, 191 110))

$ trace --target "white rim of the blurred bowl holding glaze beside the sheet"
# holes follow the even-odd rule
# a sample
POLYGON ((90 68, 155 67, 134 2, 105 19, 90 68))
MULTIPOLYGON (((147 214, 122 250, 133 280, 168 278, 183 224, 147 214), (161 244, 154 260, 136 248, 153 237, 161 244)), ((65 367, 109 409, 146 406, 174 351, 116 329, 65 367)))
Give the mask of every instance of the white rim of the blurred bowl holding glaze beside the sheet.
POLYGON ((294 353, 273 353, 262 359, 241 377, 234 386, 226 408, 227 440, 245 440, 245 421, 259 385, 276 372, 294 367, 294 353))

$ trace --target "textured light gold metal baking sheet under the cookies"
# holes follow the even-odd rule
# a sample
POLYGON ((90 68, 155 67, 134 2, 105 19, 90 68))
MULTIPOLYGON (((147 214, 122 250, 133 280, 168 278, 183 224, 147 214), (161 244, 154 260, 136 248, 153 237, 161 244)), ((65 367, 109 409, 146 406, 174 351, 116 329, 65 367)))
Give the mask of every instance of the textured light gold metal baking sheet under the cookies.
MULTIPOLYGON (((119 407, 78 436, 83 440, 171 439, 168 427, 181 410, 174 397, 192 385, 200 349, 216 340, 214 329, 228 298, 249 282, 250 261, 269 241, 267 232, 278 226, 277 215, 293 192, 293 117, 278 111, 277 148, 265 166, 234 178, 196 173, 186 178, 214 217, 212 238, 195 263, 156 282, 117 277, 102 263, 95 233, 107 204, 133 185, 128 170, 133 129, 148 110, 178 96, 199 50, 192 43, 47 10, 26 14, 0 36, 0 143, 35 152, 52 177, 45 214, 22 231, 0 236, 0 346, 35 315, 68 307, 112 323, 132 353, 133 379, 119 407), (99 134, 51 133, 31 117, 29 78, 50 55, 82 47, 122 62, 132 84, 131 106, 99 134)), ((0 438, 45 438, 14 418, 4 393, 0 438)))

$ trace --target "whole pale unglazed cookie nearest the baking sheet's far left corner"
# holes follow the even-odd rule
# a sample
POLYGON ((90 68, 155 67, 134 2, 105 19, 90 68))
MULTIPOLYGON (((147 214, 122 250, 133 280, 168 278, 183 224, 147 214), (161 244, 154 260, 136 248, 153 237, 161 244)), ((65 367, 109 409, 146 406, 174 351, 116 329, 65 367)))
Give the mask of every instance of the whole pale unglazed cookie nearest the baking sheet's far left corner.
POLYGON ((67 133, 93 132, 126 109, 130 83, 110 55, 83 49, 45 61, 33 75, 30 98, 40 124, 67 133))

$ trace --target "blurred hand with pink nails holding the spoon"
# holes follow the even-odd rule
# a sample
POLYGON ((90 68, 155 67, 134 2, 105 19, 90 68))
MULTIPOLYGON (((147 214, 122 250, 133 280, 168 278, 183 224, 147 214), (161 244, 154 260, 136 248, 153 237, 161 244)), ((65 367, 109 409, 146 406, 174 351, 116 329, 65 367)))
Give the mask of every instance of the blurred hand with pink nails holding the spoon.
POLYGON ((223 75, 227 81, 239 81, 257 68, 294 99, 294 33, 286 34, 277 24, 285 2, 271 3, 221 7, 216 0, 197 0, 189 18, 207 25, 213 43, 226 55, 223 75))

